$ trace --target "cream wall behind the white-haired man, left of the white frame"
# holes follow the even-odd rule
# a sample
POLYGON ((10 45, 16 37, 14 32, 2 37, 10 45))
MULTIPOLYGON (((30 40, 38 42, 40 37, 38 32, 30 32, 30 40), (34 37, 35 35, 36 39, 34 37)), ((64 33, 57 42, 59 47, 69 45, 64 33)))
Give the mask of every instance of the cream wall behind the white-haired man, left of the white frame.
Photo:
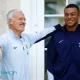
MULTIPOLYGON (((8 29, 6 14, 11 9, 19 9, 20 0, 0 0, 0 35, 8 29), (15 4, 15 5, 14 5, 15 4)), ((2 57, 2 55, 0 55, 2 57)))

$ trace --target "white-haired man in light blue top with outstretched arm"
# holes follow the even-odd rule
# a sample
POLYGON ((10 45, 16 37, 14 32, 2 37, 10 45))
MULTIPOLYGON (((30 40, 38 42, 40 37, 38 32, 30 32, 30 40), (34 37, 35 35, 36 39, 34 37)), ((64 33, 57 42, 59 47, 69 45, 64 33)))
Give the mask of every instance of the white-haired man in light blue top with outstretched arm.
MULTIPOLYGON (((55 27, 46 28, 32 35, 22 33, 26 18, 20 10, 11 10, 7 14, 7 21, 9 30, 0 37, 0 52, 2 51, 0 75, 2 80, 30 80, 28 68, 30 47, 56 29, 55 27)), ((56 26, 58 27, 59 25, 56 26)))

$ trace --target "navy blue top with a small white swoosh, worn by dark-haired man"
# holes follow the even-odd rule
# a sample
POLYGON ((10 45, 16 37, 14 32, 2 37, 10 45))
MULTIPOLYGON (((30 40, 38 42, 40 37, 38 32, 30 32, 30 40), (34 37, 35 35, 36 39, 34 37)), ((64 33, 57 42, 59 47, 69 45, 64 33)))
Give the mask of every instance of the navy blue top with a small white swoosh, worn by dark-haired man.
POLYGON ((47 50, 47 69, 54 80, 80 80, 80 25, 75 31, 53 34, 47 50))

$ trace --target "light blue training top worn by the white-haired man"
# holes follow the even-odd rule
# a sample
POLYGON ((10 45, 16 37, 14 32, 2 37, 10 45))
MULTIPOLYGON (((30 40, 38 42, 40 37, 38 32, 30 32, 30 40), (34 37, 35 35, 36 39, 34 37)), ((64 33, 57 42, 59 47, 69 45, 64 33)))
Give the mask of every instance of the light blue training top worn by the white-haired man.
MULTIPOLYGON (((60 24, 58 27, 60 27, 60 24)), ((57 29, 58 28, 50 27, 32 34, 21 33, 20 38, 13 30, 9 29, 1 35, 1 80, 30 80, 29 51, 31 46, 57 29)))

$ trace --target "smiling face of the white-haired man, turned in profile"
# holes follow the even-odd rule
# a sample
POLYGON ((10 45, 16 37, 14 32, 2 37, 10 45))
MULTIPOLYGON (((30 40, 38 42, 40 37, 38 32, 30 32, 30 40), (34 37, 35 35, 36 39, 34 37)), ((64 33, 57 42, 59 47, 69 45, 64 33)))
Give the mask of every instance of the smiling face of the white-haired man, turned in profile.
POLYGON ((12 18, 8 20, 10 25, 9 27, 14 32, 21 33, 25 29, 25 24, 26 24, 25 21, 26 19, 22 11, 16 11, 13 13, 12 18))

